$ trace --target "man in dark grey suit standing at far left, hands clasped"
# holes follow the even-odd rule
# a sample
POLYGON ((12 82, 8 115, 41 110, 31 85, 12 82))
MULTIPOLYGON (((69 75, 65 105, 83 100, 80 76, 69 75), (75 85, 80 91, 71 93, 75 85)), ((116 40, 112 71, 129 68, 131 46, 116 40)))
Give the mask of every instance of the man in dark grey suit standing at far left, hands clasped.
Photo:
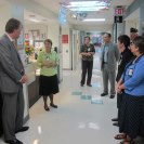
POLYGON ((23 144, 15 136, 16 132, 28 130, 23 127, 24 95, 23 83, 27 76, 14 45, 22 30, 22 24, 15 18, 8 21, 5 34, 0 38, 0 91, 2 95, 2 125, 5 142, 23 144))

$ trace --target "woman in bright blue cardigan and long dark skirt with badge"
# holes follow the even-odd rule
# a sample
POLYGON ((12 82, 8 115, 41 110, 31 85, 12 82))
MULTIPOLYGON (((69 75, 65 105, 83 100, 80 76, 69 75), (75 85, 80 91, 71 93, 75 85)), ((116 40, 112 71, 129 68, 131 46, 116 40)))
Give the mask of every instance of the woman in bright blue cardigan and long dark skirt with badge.
POLYGON ((120 144, 133 144, 138 135, 144 136, 144 38, 136 37, 131 44, 134 58, 126 66, 117 91, 122 95, 119 132, 125 134, 120 144))

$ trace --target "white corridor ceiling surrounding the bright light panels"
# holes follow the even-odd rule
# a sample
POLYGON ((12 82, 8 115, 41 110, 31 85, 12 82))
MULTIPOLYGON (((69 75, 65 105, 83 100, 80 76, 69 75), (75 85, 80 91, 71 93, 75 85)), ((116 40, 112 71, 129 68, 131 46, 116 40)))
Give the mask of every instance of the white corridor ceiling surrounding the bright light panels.
MULTIPOLYGON (((40 10, 35 10, 34 12, 26 9, 25 11, 25 18, 30 19, 31 16, 35 18, 37 17, 38 21, 48 23, 48 22, 53 22, 58 19, 58 14, 62 5, 68 5, 70 2, 80 2, 81 0, 0 0, 0 5, 3 4, 4 2, 17 2, 22 4, 30 5, 34 3, 37 3, 38 6, 43 8, 44 12, 48 11, 48 13, 44 15, 41 15, 41 13, 37 13, 40 10), (55 15, 55 17, 52 17, 50 15, 55 15), (47 16, 49 15, 49 16, 47 16)), ((93 2, 94 0, 82 0, 82 1, 89 1, 93 2)), ((66 21, 68 24, 73 25, 106 25, 106 24, 113 24, 114 23, 114 9, 118 5, 125 6, 126 9, 134 1, 134 0, 95 0, 97 3, 100 2, 110 2, 110 4, 106 9, 102 9, 100 11, 87 11, 87 12, 73 12, 68 9, 66 9, 66 21), (77 18, 75 17, 77 16, 77 18), (105 22, 83 22, 84 18, 105 18, 105 22)), ((37 9, 38 9, 37 6, 37 9)), ((32 5, 31 5, 32 8, 32 5)), ((126 11, 127 12, 127 11, 126 11)), ((32 22, 34 23, 34 22, 32 22)))

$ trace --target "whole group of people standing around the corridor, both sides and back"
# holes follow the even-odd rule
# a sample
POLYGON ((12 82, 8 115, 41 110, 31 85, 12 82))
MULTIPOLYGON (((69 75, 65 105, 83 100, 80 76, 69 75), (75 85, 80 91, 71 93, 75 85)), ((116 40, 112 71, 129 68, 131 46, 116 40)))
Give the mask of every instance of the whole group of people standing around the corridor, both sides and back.
MULTIPOLYGON (((0 134, 4 133, 4 140, 9 144, 23 144, 16 139, 15 133, 28 130, 23 127, 24 95, 23 83, 27 82, 27 76, 14 40, 21 35, 23 26, 19 21, 11 18, 5 25, 5 34, 0 38, 0 134)), ((104 90, 101 96, 108 94, 108 80, 110 82, 110 99, 115 97, 117 82, 118 126, 120 134, 115 139, 123 140, 120 144, 133 144, 138 135, 144 136, 144 38, 135 37, 130 41, 127 35, 118 37, 118 43, 110 41, 110 34, 104 35, 102 47, 102 74, 104 90), (130 44, 131 42, 131 44, 130 44), (119 53, 120 52, 120 53, 119 53), (117 62, 118 73, 116 76, 117 62)), ((90 37, 84 37, 81 45, 82 74, 80 86, 86 83, 92 87, 92 68, 94 45, 90 43, 90 37)), ((40 69, 39 94, 43 96, 44 109, 50 110, 47 103, 50 97, 50 106, 54 104, 54 94, 58 92, 57 65, 58 56, 52 51, 52 40, 44 40, 44 50, 38 55, 40 69)))

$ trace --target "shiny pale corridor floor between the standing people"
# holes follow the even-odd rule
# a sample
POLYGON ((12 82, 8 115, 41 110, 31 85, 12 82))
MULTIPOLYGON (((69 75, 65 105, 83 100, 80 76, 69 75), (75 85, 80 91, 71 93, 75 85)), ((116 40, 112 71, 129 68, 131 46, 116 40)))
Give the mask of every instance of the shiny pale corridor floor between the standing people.
MULTIPOLYGON (((30 108, 30 119, 27 122, 30 129, 16 134, 17 139, 24 144, 118 144, 119 141, 114 139, 118 128, 110 120, 117 116, 116 99, 105 96, 102 99, 103 104, 91 104, 91 100, 78 95, 101 99, 99 54, 94 58, 92 88, 80 87, 80 65, 77 70, 64 71, 63 75, 61 92, 55 95, 58 108, 45 112, 40 99, 30 108)), ((3 144, 1 140, 0 144, 3 144)))

